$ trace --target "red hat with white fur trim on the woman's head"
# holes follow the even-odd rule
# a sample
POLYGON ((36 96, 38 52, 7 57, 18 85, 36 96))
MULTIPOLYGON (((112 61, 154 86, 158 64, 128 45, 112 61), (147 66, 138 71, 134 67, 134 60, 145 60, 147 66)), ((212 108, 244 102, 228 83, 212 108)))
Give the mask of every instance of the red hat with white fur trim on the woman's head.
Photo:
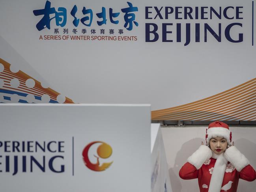
POLYGON ((213 137, 223 137, 227 140, 228 145, 231 145, 232 132, 226 123, 215 121, 209 124, 208 129, 206 129, 206 143, 208 145, 213 137))

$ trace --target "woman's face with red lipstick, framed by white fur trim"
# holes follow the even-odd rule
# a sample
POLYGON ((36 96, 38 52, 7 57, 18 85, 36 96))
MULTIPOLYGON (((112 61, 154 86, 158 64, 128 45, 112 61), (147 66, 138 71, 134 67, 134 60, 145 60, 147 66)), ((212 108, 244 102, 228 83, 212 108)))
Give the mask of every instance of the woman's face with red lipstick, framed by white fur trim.
POLYGON ((225 138, 214 137, 210 140, 210 148, 215 154, 219 155, 223 153, 228 146, 228 142, 225 138))

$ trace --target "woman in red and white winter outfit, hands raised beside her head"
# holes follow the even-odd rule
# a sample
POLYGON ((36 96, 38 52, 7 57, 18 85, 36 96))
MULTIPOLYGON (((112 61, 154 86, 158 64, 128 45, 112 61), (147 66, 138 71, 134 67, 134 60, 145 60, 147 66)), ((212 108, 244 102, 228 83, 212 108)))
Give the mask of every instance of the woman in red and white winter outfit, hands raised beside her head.
POLYGON ((226 123, 211 123, 206 129, 207 146, 202 142, 182 166, 179 176, 198 178, 200 192, 236 192, 239 179, 254 181, 255 170, 234 142, 231 145, 231 140, 232 133, 226 123))

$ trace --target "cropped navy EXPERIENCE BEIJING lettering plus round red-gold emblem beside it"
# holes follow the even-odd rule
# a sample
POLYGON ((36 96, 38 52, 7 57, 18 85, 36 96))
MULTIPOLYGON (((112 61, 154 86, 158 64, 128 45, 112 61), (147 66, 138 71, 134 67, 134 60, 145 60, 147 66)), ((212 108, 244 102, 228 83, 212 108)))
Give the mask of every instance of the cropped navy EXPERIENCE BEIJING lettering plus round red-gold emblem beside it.
MULTIPOLYGON (((64 157, 68 155, 65 152, 64 141, 0 141, 0 173, 64 173, 64 157)), ((113 161, 103 162, 103 159, 111 155, 112 147, 101 141, 89 143, 82 151, 84 164, 93 171, 106 170, 113 161), (93 158, 96 163, 92 162, 93 158)))

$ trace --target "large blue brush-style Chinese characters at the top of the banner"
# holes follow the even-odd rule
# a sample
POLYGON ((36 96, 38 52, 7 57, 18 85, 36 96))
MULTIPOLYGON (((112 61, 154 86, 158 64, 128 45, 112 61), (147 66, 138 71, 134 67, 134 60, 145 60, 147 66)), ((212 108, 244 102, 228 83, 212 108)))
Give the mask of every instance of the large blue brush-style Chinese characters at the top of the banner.
MULTIPOLYGON (((133 24, 135 26, 138 26, 138 22, 135 21, 135 13, 138 11, 138 7, 134 7, 131 2, 127 2, 128 7, 122 8, 121 12, 124 13, 123 19, 125 21, 124 27, 131 31, 133 29, 133 24)), ((93 14, 93 10, 88 6, 84 6, 83 8, 77 7, 77 5, 74 5, 73 8, 70 8, 70 16, 72 18, 72 23, 74 27, 78 27, 79 23, 82 23, 83 26, 90 27, 93 22, 93 16, 98 18, 97 21, 98 26, 106 25, 108 22, 112 24, 118 24, 119 18, 120 18, 120 12, 117 12, 119 10, 114 11, 112 8, 109 8, 108 11, 106 11, 106 7, 101 7, 101 12, 93 14), (82 18, 78 18, 77 12, 80 13, 80 11, 84 15, 82 18), (108 14, 107 14, 108 12, 108 14), (109 21, 107 19, 109 18, 109 21)), ((33 13, 35 16, 43 15, 42 19, 36 24, 36 28, 38 31, 41 31, 45 28, 50 29, 50 24, 52 20, 55 20, 56 26, 64 27, 68 21, 67 19, 67 9, 65 7, 58 7, 58 9, 55 9, 55 7, 51 7, 51 2, 46 1, 45 7, 43 9, 37 9, 34 10, 33 13), (56 11, 57 10, 57 11, 56 11), (50 17, 53 15, 54 17, 50 17)))

